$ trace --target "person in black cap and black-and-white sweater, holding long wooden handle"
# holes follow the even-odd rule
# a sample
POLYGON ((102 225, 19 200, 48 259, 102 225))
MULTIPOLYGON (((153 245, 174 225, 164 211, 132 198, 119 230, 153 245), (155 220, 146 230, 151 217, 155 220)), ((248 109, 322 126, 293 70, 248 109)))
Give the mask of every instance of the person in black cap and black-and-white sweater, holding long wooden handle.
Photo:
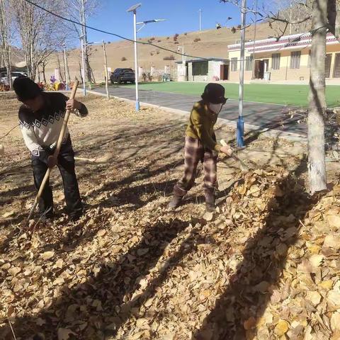
MULTIPOLYGON (((19 126, 23 140, 31 152, 35 188, 40 188, 47 168, 57 165, 62 175, 70 220, 78 220, 83 213, 83 205, 74 171, 74 151, 68 129, 57 159, 53 153, 66 110, 70 109, 76 115, 84 117, 88 114, 87 108, 64 94, 42 92, 38 84, 28 77, 16 78, 13 88, 18 101, 23 103, 18 113, 19 126)), ((44 220, 53 217, 53 197, 49 182, 42 191, 39 210, 44 220)))

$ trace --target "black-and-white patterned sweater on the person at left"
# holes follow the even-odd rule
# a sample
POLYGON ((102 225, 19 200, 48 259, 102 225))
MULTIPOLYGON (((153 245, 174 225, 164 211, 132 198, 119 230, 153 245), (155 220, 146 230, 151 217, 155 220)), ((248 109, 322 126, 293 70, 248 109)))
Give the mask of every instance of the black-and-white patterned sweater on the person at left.
MULTIPOLYGON (((66 113, 66 102, 69 98, 60 93, 42 92, 45 105, 38 111, 33 112, 28 106, 19 108, 19 126, 23 134, 23 140, 32 153, 42 162, 47 163, 47 157, 57 145, 57 140, 62 130, 62 123, 66 113)), ((81 109, 74 112, 79 117, 88 114, 86 106, 81 104, 81 109)), ((67 129, 63 143, 69 137, 67 129)))

